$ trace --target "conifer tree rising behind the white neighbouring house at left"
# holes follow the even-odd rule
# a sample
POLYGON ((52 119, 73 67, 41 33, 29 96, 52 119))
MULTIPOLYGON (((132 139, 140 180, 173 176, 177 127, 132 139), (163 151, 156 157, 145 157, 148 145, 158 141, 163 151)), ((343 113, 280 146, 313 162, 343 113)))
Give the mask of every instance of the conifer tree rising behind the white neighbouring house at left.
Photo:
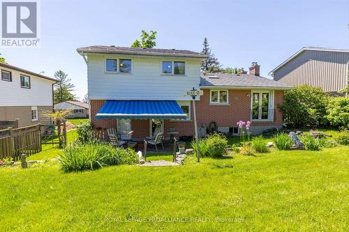
POLYGON ((63 71, 59 70, 54 72, 54 77, 57 79, 57 83, 54 84, 54 104, 64 102, 67 100, 75 100, 75 95, 71 93, 74 91, 75 85, 71 84, 71 79, 63 71))

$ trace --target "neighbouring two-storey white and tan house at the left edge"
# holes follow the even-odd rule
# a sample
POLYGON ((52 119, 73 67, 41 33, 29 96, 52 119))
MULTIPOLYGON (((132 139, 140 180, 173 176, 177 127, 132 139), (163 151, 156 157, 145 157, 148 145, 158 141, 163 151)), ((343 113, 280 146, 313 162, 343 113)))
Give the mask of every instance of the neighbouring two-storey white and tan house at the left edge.
POLYGON ((0 63, 0 121, 18 119, 18 127, 50 124, 55 79, 0 63))

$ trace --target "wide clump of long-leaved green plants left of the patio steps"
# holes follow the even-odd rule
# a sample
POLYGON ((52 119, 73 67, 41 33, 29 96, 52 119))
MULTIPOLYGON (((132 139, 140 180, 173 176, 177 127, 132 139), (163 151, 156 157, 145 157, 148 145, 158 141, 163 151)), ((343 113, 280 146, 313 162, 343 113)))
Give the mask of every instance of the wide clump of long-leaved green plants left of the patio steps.
POLYGON ((75 143, 64 149, 60 157, 61 169, 65 172, 94 170, 117 164, 135 164, 138 155, 134 150, 114 148, 109 144, 89 142, 75 143))

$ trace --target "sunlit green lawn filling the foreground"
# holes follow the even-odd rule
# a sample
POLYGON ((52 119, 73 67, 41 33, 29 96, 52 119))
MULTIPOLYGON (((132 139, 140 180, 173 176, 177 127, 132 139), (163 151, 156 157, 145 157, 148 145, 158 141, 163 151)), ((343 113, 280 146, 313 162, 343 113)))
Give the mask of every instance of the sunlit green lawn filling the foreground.
POLYGON ((347 231, 348 162, 338 146, 176 167, 0 168, 0 231, 347 231))

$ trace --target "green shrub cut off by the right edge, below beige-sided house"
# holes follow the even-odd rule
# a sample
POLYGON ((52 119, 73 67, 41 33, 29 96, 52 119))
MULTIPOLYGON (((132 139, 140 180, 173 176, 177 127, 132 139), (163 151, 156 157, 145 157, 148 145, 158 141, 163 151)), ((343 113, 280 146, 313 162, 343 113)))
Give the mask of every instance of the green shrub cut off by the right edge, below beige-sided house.
POLYGON ((349 128, 349 98, 332 97, 327 105, 329 124, 349 128))

